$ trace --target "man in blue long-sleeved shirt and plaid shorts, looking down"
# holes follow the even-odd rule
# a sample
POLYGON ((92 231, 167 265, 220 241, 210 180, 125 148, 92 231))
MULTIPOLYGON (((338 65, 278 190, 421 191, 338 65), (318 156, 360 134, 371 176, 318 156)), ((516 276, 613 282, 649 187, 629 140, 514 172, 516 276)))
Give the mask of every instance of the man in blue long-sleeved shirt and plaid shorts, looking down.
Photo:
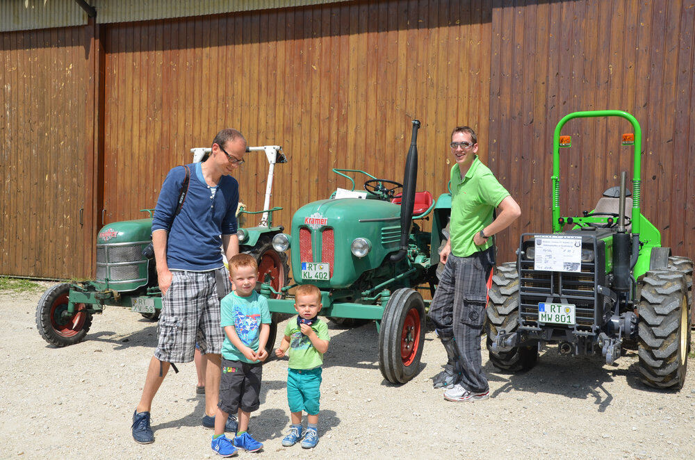
MULTIPOLYGON (((231 291, 220 246, 227 258, 238 254, 236 207, 239 188, 231 177, 246 151, 246 140, 236 129, 223 129, 213 140, 204 163, 187 165, 188 190, 176 214, 184 167, 167 174, 152 218, 152 244, 156 260, 162 311, 158 345, 149 363, 145 387, 131 431, 142 444, 154 442, 150 427, 152 400, 170 363, 193 361, 195 343, 208 360, 203 425, 215 426, 220 389, 220 364, 224 333, 220 327, 220 299, 231 291)), ((176 368, 174 367, 174 370, 176 368)), ((227 429, 236 429, 230 417, 227 429)))

